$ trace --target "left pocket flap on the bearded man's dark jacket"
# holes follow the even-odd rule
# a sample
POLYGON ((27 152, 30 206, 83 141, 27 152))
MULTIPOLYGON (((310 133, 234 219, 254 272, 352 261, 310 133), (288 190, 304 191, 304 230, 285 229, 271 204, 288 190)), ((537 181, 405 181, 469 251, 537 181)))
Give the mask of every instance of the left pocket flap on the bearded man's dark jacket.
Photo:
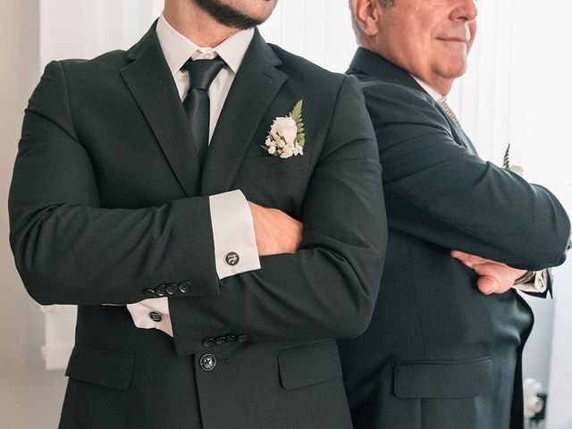
POLYGON ((65 374, 82 382, 126 390, 131 381, 134 356, 121 350, 76 344, 65 374))

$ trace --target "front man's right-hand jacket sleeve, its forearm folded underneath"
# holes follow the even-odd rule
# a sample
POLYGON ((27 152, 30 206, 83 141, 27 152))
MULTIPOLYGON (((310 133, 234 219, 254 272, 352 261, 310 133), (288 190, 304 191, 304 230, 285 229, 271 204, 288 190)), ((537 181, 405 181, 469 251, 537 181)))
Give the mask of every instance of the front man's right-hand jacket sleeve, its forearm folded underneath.
POLYGON ((180 352, 203 350, 203 338, 228 332, 247 332, 253 341, 302 341, 366 329, 387 231, 373 130, 353 78, 337 97, 302 221, 296 254, 261 257, 261 270, 224 279, 219 296, 170 302, 180 352))

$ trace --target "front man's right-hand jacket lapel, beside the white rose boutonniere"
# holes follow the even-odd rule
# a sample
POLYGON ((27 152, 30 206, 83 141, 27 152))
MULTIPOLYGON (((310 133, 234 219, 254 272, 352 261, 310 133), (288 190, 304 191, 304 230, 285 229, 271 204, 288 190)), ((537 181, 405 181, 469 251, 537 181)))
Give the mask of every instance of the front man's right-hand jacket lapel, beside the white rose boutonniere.
POLYGON ((288 79, 287 74, 275 68, 281 63, 256 31, 208 147, 201 180, 202 195, 230 189, 268 106, 288 79))

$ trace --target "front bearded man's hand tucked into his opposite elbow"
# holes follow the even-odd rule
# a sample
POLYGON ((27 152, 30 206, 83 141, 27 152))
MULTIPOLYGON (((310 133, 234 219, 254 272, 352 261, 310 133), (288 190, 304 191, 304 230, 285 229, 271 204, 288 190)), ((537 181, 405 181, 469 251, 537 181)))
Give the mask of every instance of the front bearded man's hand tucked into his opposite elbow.
POLYGON ((276 208, 266 208, 248 201, 258 255, 295 253, 302 241, 304 225, 276 208))

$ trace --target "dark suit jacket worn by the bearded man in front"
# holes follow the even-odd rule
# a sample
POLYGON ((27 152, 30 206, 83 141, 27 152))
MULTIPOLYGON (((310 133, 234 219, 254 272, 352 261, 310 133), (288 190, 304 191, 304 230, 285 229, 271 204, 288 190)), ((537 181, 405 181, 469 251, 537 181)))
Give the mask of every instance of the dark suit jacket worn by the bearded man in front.
POLYGON ((357 80, 256 33, 202 176, 190 139, 154 28, 128 52, 50 63, 29 100, 11 244, 32 298, 80 306, 60 427, 349 428, 332 339, 366 329, 386 240, 357 80), (299 99, 304 156, 269 156, 299 99), (299 252, 219 281, 208 196, 230 189, 304 222, 299 252), (102 307, 164 284, 174 341, 102 307))

